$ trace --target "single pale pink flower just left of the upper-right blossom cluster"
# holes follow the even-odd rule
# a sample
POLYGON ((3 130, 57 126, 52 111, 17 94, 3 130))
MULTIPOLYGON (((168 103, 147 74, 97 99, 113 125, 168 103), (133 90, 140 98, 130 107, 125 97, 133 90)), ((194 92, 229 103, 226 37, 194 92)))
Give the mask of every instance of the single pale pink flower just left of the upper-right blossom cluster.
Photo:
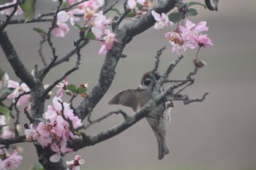
POLYGON ((151 14, 153 15, 154 19, 157 20, 157 23, 154 24, 154 28, 162 29, 165 26, 173 26, 173 22, 169 21, 169 18, 165 15, 165 13, 159 15, 159 13, 152 10, 151 14))

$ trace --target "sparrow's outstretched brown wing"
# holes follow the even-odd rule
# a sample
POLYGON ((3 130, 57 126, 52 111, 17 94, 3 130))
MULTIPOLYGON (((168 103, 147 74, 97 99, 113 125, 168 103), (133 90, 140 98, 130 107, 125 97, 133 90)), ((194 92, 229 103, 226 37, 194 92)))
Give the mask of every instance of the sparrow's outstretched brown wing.
POLYGON ((125 107, 131 107, 133 111, 136 112, 140 108, 137 93, 138 90, 123 90, 108 101, 108 104, 121 104, 125 107))

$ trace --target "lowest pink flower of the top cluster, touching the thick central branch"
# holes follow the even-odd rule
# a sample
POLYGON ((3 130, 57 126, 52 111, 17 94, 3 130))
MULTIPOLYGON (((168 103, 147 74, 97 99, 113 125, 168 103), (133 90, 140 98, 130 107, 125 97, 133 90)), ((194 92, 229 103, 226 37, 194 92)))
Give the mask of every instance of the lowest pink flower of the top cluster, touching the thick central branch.
POLYGON ((113 47, 114 42, 117 42, 116 34, 111 33, 109 29, 105 30, 105 40, 102 42, 102 47, 99 49, 99 55, 106 55, 108 51, 113 47))

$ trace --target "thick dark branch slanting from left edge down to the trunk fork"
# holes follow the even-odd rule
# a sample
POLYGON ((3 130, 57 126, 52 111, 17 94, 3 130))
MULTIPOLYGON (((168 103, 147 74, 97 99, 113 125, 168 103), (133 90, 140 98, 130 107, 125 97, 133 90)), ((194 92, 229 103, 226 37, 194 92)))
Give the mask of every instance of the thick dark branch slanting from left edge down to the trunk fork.
POLYGON ((12 66, 12 69, 15 71, 15 74, 29 86, 29 88, 34 88, 36 83, 34 82, 33 76, 28 72, 26 67, 20 61, 18 54, 15 51, 15 48, 10 42, 10 39, 6 31, 0 32, 0 45, 4 51, 4 54, 7 57, 7 60, 12 66))

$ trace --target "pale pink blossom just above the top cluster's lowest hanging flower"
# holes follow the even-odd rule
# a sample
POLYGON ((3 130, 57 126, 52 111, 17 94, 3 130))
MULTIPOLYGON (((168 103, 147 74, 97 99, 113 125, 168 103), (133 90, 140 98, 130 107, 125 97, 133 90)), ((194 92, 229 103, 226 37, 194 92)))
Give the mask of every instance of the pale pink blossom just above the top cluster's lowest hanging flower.
POLYGON ((105 27, 104 22, 106 17, 103 15, 102 11, 99 11, 99 13, 95 15, 96 18, 94 18, 94 21, 91 23, 91 31, 94 33, 96 38, 99 38, 102 35, 102 29, 105 27))

